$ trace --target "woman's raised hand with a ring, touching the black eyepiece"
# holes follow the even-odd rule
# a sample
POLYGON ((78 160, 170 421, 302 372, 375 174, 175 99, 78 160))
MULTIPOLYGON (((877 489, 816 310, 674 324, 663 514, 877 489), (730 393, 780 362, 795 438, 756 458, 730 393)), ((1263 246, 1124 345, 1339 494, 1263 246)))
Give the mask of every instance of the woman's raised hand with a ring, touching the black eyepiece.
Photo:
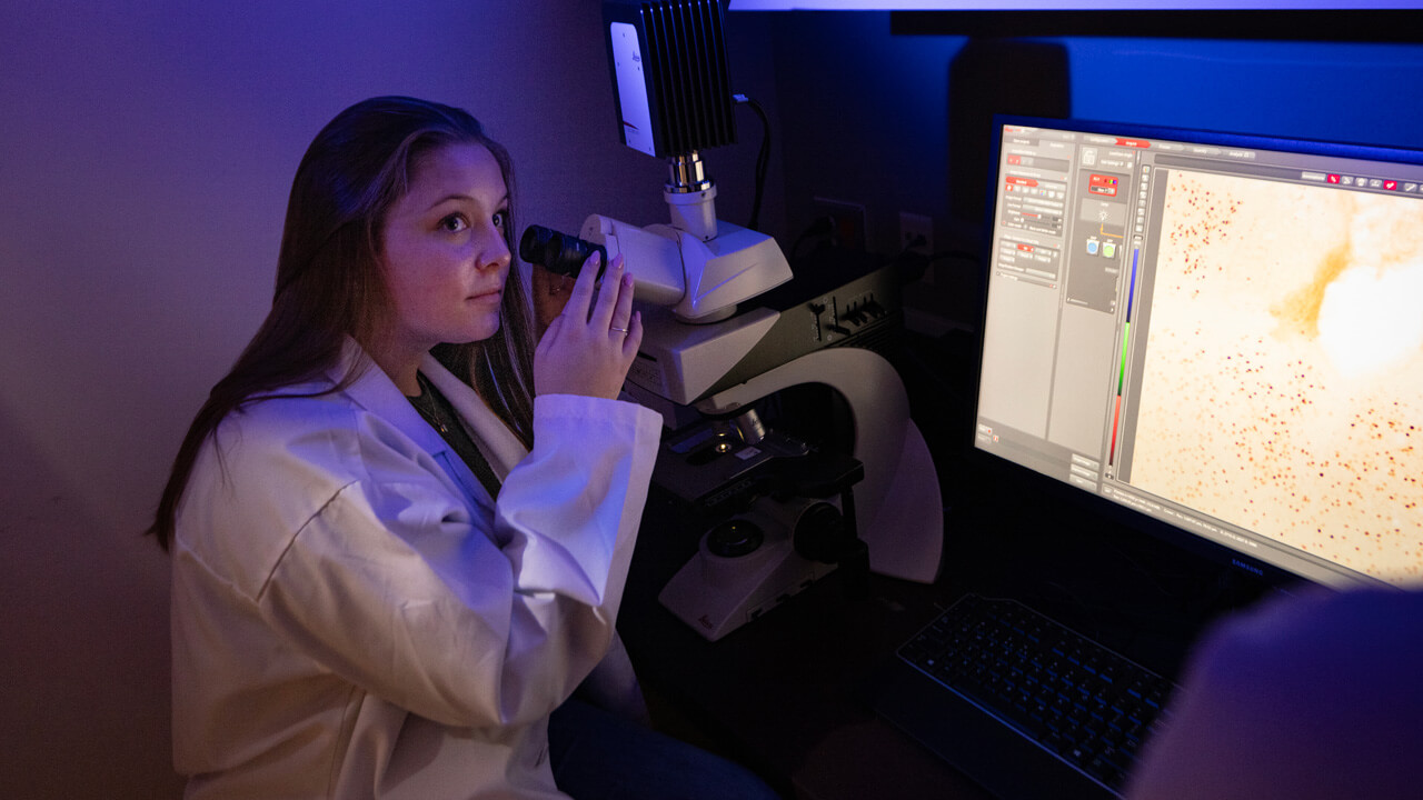
POLYGON ((568 303, 534 350, 536 394, 615 399, 642 344, 642 316, 632 310, 632 275, 616 255, 596 289, 598 253, 583 262, 568 303))

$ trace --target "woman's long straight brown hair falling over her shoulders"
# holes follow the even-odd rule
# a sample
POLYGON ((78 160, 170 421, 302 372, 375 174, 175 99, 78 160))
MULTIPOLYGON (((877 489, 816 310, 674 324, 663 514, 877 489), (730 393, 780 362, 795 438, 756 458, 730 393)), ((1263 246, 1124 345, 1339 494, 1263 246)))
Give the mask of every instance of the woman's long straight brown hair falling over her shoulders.
MULTIPOLYGON (((172 542, 198 453, 218 424, 248 403, 324 376, 340 362, 347 336, 370 340, 390 303, 380 270, 386 214, 407 191, 417 159, 451 144, 480 144, 499 164, 509 191, 504 236, 517 253, 509 154, 467 111, 410 97, 376 97, 337 114, 312 141, 292 181, 272 310, 232 370, 212 387, 174 458, 147 531, 164 549, 172 542)), ((434 349, 527 447, 534 440, 532 353, 532 319, 517 265, 505 282, 498 333, 434 349)), ((340 391, 357 377, 359 372, 344 374, 320 394, 340 391)))

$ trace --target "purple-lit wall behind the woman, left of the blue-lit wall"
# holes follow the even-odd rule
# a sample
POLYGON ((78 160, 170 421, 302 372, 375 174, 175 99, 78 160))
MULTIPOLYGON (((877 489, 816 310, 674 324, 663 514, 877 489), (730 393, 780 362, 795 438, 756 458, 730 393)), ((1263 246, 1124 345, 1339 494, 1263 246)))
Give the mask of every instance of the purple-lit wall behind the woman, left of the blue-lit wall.
MULTIPOLYGON (((481 117, 524 222, 665 222, 618 141, 598 0, 0 7, 0 793, 172 797, 168 559, 139 537, 270 299, 316 131, 376 94, 481 117)), ((733 70, 774 114, 764 24, 733 70)), ((740 53, 744 53, 741 56, 740 53)), ((744 222, 758 125, 709 155, 744 222)), ((777 223, 778 191, 763 219, 777 223)))

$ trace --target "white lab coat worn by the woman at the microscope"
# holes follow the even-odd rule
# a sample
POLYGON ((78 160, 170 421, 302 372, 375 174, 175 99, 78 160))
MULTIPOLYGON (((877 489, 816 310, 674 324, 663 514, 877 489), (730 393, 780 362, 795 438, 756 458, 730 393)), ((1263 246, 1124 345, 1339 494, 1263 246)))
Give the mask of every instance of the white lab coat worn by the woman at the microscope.
POLYGON ((660 417, 541 396, 527 453, 421 370, 502 478, 497 504, 376 366, 229 414, 203 447, 174 542, 188 797, 564 797, 548 715, 613 643, 660 417))

